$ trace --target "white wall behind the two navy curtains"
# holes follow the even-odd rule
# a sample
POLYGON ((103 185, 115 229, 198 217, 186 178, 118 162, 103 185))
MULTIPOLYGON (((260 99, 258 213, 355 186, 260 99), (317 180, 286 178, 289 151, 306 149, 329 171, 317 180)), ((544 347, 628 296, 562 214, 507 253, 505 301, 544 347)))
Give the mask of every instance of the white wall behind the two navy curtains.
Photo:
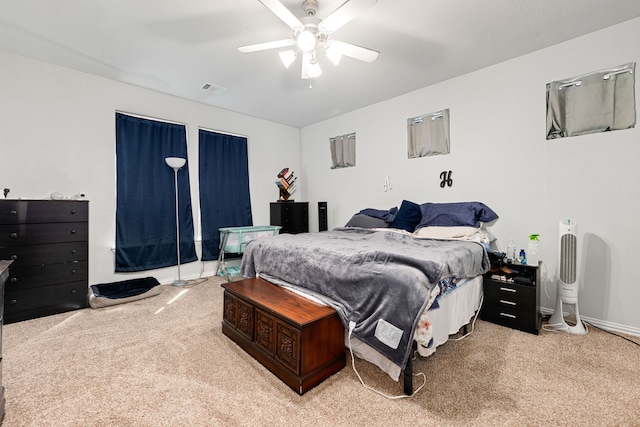
MULTIPOLYGON (((114 273, 115 112, 185 123, 195 234, 200 235, 198 127, 247 136, 254 224, 269 223, 269 202, 284 166, 299 169, 300 130, 158 92, 0 52, 0 187, 9 198, 46 199, 85 193, 89 205, 89 284, 154 276, 177 269, 114 273)), ((301 192, 301 194, 303 194, 301 192)), ((220 203, 224 203, 221 200, 220 203)), ((198 247, 199 253, 199 247, 198 247)), ((215 273, 216 262, 194 262, 182 277, 215 273)))

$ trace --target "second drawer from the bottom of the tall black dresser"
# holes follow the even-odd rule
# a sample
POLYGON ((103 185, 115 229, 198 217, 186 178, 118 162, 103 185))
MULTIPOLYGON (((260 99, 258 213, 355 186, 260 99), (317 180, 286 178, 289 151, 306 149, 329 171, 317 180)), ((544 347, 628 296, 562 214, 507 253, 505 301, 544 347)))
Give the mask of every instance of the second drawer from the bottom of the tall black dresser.
POLYGON ((45 264, 31 267, 9 268, 6 289, 27 289, 56 283, 85 280, 89 266, 87 261, 76 261, 63 264, 45 264))

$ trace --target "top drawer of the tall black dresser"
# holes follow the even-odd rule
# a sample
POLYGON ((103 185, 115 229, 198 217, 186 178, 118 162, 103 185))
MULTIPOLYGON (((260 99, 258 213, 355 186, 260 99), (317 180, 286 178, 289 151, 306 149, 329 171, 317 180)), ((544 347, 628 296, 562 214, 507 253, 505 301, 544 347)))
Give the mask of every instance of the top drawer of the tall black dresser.
POLYGON ((83 222, 89 219, 89 203, 52 200, 3 200, 0 224, 83 222))

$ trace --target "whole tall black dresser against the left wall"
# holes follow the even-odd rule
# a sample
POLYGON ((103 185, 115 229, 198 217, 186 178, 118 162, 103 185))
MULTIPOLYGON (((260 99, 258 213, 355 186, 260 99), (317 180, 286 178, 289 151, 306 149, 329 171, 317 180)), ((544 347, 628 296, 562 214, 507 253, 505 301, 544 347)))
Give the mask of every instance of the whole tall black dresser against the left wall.
POLYGON ((0 200, 5 323, 87 307, 89 203, 0 200))

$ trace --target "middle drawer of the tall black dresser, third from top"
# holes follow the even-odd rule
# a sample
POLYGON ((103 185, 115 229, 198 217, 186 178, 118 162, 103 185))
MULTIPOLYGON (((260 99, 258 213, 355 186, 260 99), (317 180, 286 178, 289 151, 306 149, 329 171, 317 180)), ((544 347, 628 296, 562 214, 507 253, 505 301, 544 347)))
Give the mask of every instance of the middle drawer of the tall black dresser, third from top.
POLYGON ((70 261, 86 261, 88 257, 89 248, 86 241, 0 247, 0 259, 12 260, 12 268, 29 265, 59 264, 70 261))

